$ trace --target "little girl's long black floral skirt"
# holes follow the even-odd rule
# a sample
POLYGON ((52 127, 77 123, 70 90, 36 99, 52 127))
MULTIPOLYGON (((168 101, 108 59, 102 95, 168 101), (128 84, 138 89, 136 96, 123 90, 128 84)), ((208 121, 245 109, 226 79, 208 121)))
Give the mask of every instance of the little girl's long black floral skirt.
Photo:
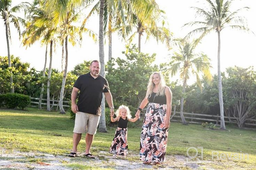
POLYGON ((116 155, 128 154, 127 128, 118 127, 116 129, 109 152, 116 155))

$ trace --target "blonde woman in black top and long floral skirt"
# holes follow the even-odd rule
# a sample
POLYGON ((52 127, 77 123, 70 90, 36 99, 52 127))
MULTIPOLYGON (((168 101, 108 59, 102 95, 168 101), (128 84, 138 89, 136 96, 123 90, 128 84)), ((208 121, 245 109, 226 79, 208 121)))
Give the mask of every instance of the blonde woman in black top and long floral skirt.
POLYGON ((148 102, 141 132, 140 159, 144 164, 160 164, 165 161, 172 102, 171 90, 161 73, 151 74, 147 94, 136 115, 140 115, 148 102))

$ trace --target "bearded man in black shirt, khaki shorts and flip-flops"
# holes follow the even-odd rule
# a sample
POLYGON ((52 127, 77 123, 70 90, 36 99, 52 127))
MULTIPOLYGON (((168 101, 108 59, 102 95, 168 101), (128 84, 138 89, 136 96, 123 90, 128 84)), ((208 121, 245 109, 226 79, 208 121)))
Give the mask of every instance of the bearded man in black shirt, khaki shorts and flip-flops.
POLYGON ((95 158, 90 153, 90 148, 100 120, 102 93, 106 97, 111 114, 114 113, 112 95, 109 91, 108 82, 99 73, 100 62, 93 60, 90 65, 90 72, 80 75, 74 83, 71 94, 71 110, 76 113, 76 120, 73 131, 73 149, 69 154, 70 157, 77 156, 78 143, 82 133, 86 133, 85 156, 95 158), (80 91, 80 95, 76 104, 78 91, 80 91))

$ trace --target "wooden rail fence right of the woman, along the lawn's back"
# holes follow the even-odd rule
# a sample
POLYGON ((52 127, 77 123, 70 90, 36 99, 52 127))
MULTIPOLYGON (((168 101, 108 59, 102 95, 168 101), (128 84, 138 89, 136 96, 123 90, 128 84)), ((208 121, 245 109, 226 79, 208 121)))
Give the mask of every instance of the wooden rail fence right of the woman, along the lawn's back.
MULTIPOLYGON (((220 116, 219 115, 209 115, 209 114, 199 114, 199 113, 186 113, 183 112, 184 118, 187 123, 192 124, 202 124, 205 122, 214 123, 217 126, 220 126, 220 116)), ((140 116, 143 118, 144 113, 141 112, 140 116)), ((237 124, 235 117, 227 117, 224 116, 225 123, 237 124)), ((182 122, 180 117, 180 112, 174 114, 172 112, 171 121, 182 122)), ((246 123, 244 123, 245 128, 256 128, 256 119, 248 119, 246 123)))

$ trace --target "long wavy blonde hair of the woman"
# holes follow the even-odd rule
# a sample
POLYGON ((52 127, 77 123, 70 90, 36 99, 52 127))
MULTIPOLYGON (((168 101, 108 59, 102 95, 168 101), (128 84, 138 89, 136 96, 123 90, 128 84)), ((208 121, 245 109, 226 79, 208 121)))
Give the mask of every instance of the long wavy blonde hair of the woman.
POLYGON ((148 89, 147 89, 147 93, 146 93, 147 97, 150 97, 150 95, 153 92, 153 89, 155 87, 155 84, 153 83, 153 76, 155 74, 158 74, 158 76, 160 77, 160 82, 158 84, 158 91, 157 91, 156 95, 157 96, 158 95, 163 96, 165 94, 166 84, 165 84, 165 81, 164 81, 164 77, 160 72, 154 72, 150 75, 150 78, 149 78, 148 89))

